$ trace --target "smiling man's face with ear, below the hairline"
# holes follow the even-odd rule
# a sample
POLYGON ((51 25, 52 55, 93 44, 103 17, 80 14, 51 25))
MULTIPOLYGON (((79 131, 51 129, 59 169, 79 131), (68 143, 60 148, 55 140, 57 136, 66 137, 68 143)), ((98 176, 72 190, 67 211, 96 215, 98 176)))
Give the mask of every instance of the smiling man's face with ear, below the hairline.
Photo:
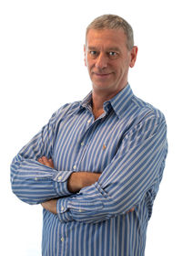
POLYGON ((85 63, 94 91, 117 93, 127 83, 129 67, 136 61, 137 48, 126 48, 123 29, 90 29, 86 37, 85 63))

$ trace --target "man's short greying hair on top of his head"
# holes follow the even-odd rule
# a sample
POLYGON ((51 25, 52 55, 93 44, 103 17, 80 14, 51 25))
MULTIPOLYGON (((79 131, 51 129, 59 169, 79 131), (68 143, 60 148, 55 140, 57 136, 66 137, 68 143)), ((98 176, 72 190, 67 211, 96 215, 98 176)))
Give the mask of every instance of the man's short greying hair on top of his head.
POLYGON ((86 27, 86 36, 90 29, 123 29, 126 34, 126 47, 131 50, 134 47, 133 28, 126 20, 116 15, 103 15, 94 19, 88 27, 86 27))

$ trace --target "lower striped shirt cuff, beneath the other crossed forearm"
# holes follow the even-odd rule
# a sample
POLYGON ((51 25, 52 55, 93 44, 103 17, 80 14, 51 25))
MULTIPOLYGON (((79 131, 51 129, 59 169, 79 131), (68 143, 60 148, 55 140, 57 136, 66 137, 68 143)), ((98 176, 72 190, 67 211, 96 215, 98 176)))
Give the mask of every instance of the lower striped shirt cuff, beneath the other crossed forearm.
POLYGON ((56 211, 57 217, 62 222, 72 221, 70 211, 68 210, 69 197, 63 197, 57 200, 56 211))

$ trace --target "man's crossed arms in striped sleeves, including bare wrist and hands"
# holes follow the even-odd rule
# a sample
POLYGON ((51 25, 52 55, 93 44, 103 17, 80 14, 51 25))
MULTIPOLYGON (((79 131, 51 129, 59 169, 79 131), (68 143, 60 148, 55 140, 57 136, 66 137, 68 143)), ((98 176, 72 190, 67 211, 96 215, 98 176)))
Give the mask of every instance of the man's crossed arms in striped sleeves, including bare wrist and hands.
POLYGON ((149 189, 154 191, 154 195, 150 193, 153 200, 167 155, 163 116, 144 112, 102 174, 54 168, 48 159, 54 151, 55 123, 53 117, 15 156, 11 181, 17 197, 29 204, 42 204, 57 213, 60 221, 87 223, 126 214, 149 189))

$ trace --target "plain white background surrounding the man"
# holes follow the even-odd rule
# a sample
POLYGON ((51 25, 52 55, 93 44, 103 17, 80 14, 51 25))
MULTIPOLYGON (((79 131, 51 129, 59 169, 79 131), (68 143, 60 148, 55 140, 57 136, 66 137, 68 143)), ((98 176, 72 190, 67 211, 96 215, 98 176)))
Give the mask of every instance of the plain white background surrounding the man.
POLYGON ((147 229, 146 255, 182 255, 182 18, 177 0, 0 2, 1 255, 41 255, 42 208, 26 205, 11 192, 9 165, 56 109, 91 90, 85 30, 96 16, 108 13, 123 16, 134 28, 139 48, 129 73, 134 93, 167 118, 167 166, 147 229))

